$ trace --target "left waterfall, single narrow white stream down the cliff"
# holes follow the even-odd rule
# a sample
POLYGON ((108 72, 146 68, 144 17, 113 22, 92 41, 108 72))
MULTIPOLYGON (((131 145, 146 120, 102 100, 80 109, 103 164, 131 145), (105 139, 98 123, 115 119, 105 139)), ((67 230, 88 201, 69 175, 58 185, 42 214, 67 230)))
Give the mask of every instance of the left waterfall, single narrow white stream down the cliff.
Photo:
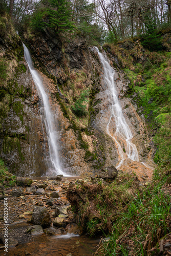
POLYGON ((37 88, 37 91, 39 93, 39 96, 42 99, 42 103, 44 105, 44 111, 45 111, 44 122, 46 126, 46 131, 47 131, 51 169, 55 174, 65 175, 65 173, 63 173, 61 170, 61 164, 60 164, 60 159, 58 155, 57 131, 55 130, 54 117, 50 109, 49 98, 45 91, 44 84, 42 83, 41 77, 39 76, 38 72, 34 69, 32 65, 32 58, 28 48, 24 44, 23 44, 23 47, 24 47, 25 59, 27 61, 30 73, 32 75, 32 78, 37 88))

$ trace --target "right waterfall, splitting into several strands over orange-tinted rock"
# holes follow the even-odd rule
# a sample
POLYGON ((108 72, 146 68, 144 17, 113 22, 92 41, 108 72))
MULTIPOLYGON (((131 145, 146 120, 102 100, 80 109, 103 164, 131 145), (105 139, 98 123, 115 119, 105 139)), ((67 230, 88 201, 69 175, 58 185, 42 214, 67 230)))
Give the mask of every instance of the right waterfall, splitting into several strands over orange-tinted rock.
POLYGON ((119 103, 118 94, 116 91, 116 86, 114 81, 115 71, 110 66, 110 63, 107 57, 104 54, 100 53, 97 47, 95 47, 95 49, 99 55, 99 58, 104 70, 103 79, 104 79, 104 83, 108 87, 108 96, 110 97, 112 102, 111 116, 110 116, 108 125, 106 126, 106 132, 115 141, 117 145, 120 162, 116 167, 120 167, 123 161, 127 158, 130 158, 133 161, 139 161, 138 152, 137 152, 136 145, 132 143, 133 135, 129 125, 127 125, 125 121, 125 118, 122 113, 122 108, 119 103), (115 119, 115 124, 116 124, 116 131, 114 135, 112 135, 109 130, 109 126, 111 124, 112 118, 115 119), (125 152, 123 151, 120 141, 122 141, 123 144, 125 145, 125 152))

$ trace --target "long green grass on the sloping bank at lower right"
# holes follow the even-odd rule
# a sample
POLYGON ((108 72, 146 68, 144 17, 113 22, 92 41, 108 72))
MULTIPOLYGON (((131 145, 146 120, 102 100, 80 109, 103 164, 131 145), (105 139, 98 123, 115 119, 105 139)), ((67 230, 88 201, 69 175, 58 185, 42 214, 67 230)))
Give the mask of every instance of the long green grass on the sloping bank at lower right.
POLYGON ((138 193, 124 211, 118 212, 112 235, 98 255, 147 255, 147 251, 171 231, 168 225, 170 197, 162 190, 167 177, 162 178, 161 172, 158 167, 154 183, 138 193))

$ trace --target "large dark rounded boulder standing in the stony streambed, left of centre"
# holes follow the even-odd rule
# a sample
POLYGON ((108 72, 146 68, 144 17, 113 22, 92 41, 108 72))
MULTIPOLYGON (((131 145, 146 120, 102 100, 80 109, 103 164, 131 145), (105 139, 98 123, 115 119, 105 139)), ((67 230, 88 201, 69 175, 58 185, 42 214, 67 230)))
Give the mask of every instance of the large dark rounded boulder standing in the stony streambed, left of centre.
POLYGON ((50 214, 45 207, 35 206, 31 217, 31 223, 48 227, 52 223, 50 214))

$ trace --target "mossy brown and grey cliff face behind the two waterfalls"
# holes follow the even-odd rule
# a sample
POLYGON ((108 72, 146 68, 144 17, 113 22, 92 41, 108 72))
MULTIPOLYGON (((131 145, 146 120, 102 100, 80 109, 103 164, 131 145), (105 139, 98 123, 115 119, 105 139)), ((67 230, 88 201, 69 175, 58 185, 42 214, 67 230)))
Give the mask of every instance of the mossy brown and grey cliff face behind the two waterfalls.
MULTIPOLYGON (((101 79, 103 71, 96 51, 88 47, 82 38, 67 41, 63 38, 61 42, 61 38, 46 31, 42 36, 25 39, 32 50, 34 66, 48 92, 58 130, 63 171, 74 175, 91 175, 97 174, 102 167, 116 166, 116 145, 106 132, 111 102, 106 84, 101 79), (72 105, 85 90, 89 90, 86 114, 78 118, 72 111, 72 105)), ((13 51, 15 59, 19 61, 15 60, 13 75, 4 89, 6 96, 3 94, 0 98, 3 104, 3 110, 0 109, 3 117, 0 157, 5 160, 9 171, 17 176, 52 176, 51 172, 48 173, 49 147, 42 123, 44 109, 24 60, 22 41, 18 36, 14 41, 17 51, 13 51)), ((133 46, 129 43, 123 47, 133 46)), ((4 56, 8 56, 9 48, 3 41, 0 42, 1 49, 4 56)), ((117 62, 114 57, 112 60, 114 64, 117 62)), ((116 71, 114 79, 123 115, 135 137, 134 143, 142 151, 140 161, 144 161, 153 151, 145 150, 143 153, 145 144, 148 144, 144 136, 145 122, 136 112, 134 98, 125 97, 132 89, 123 72, 116 71)), ((114 134, 115 130, 112 120, 110 133, 114 134)), ((61 177, 56 180, 61 180, 61 177)))

